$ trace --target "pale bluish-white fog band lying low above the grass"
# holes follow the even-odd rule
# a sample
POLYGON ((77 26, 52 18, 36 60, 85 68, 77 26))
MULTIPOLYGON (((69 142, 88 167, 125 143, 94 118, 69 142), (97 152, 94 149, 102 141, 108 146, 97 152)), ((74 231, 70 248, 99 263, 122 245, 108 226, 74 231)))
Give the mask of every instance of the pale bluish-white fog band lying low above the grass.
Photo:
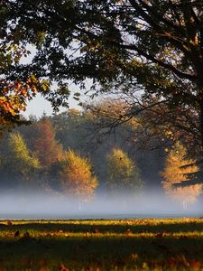
POLYGON ((134 219, 202 217, 202 202, 196 201, 183 210, 180 202, 163 194, 146 192, 133 198, 125 195, 92 201, 78 201, 47 193, 2 193, 0 219, 134 219))

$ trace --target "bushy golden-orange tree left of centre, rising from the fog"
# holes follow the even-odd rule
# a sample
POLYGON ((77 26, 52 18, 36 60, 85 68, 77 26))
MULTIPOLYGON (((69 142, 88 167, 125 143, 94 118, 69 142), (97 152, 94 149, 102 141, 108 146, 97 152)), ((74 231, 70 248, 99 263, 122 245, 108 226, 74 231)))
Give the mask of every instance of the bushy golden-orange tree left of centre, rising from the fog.
POLYGON ((68 150, 61 160, 60 182, 64 193, 88 201, 97 188, 97 178, 92 174, 91 164, 72 150, 68 150))

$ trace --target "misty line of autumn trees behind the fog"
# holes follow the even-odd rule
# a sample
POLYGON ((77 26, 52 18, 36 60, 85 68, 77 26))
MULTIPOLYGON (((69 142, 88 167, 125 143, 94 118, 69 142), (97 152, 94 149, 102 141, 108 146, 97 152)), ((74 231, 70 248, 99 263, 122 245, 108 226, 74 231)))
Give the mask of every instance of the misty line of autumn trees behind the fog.
POLYGON ((0 145, 1 189, 43 190, 78 201, 100 194, 136 198, 143 191, 163 190, 186 208, 201 194, 202 185, 174 184, 198 172, 196 161, 168 127, 152 136, 152 117, 112 125, 125 107, 107 99, 81 111, 30 117, 31 125, 7 132, 0 145))

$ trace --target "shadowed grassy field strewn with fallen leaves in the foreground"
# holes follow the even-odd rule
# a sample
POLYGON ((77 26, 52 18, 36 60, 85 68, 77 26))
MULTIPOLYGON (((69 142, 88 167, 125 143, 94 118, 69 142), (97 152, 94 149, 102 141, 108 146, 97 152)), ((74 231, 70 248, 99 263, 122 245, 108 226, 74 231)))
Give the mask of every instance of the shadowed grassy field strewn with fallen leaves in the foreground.
POLYGON ((1 220, 0 270, 203 270, 203 220, 1 220))

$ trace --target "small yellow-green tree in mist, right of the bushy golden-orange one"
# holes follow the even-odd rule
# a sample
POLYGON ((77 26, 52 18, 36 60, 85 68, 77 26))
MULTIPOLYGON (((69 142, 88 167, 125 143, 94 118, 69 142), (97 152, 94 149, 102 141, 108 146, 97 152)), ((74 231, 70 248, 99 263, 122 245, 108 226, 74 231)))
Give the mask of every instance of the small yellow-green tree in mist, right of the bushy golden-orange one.
POLYGON ((113 148, 106 156, 106 187, 115 194, 137 193, 143 187, 140 172, 128 154, 120 148, 113 148))

